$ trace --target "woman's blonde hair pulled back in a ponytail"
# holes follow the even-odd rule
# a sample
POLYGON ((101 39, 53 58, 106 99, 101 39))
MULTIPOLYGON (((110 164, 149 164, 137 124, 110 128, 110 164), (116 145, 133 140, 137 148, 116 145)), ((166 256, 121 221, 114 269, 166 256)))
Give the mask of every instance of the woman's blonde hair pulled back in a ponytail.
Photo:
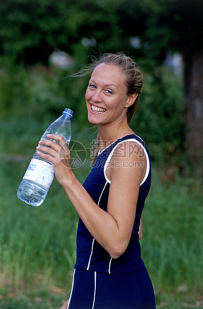
MULTIPOLYGON (((119 52, 117 54, 102 54, 98 58, 96 57, 91 57, 92 63, 88 65, 88 67, 84 68, 82 71, 77 73, 77 76, 84 76, 91 74, 96 66, 99 64, 111 64, 118 66, 121 71, 125 74, 126 76, 126 89, 127 89, 127 95, 132 95, 134 93, 137 93, 137 97, 135 99, 135 102, 133 105, 131 105, 128 110, 127 110, 127 121, 128 124, 130 124, 137 105, 138 105, 138 100, 139 100, 139 95, 141 92, 141 87, 142 87, 142 73, 138 67, 138 65, 135 63, 135 61, 126 56, 124 53, 119 52)), ((99 135, 97 135, 97 138, 95 140, 93 149, 92 149, 92 164, 95 162, 97 158, 97 154, 100 148, 100 142, 99 142, 99 135)))

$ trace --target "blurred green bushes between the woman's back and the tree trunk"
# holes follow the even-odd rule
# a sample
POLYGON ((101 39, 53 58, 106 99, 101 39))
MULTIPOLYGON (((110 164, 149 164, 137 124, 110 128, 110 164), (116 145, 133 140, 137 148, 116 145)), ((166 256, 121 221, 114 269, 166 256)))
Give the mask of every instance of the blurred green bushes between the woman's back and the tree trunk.
POLYGON ((180 75, 173 75, 166 67, 144 74, 131 126, 143 137, 152 159, 172 162, 174 155, 178 158, 184 151, 182 87, 180 75))

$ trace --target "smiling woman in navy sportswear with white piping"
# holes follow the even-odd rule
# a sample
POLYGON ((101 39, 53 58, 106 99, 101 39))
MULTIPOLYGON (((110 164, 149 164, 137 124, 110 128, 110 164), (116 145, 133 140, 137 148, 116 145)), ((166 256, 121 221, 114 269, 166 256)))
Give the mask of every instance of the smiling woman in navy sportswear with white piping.
POLYGON ((83 185, 70 168, 62 137, 49 135, 59 145, 44 140, 37 147, 38 155, 54 164, 56 177, 79 215, 72 290, 62 308, 154 309, 138 236, 151 182, 150 158, 129 127, 142 75, 122 53, 94 60, 91 72, 85 99, 88 120, 98 125, 98 138, 94 165, 83 185))

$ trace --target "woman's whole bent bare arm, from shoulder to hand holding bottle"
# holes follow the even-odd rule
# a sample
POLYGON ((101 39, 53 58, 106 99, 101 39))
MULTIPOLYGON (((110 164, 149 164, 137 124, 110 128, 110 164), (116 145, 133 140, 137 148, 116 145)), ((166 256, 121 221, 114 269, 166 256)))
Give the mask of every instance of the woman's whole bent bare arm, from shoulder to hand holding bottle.
POLYGON ((70 169, 69 150, 64 139, 56 135, 51 135, 49 138, 59 141, 60 145, 54 141, 42 141, 41 145, 52 148, 40 147, 40 150, 47 154, 39 155, 54 164, 58 181, 66 190, 72 205, 91 235, 112 258, 118 258, 126 250, 132 234, 145 158, 142 158, 142 168, 140 165, 137 167, 136 164, 133 167, 128 165, 131 161, 140 161, 137 154, 127 153, 125 157, 120 155, 113 158, 118 162, 119 167, 111 168, 111 185, 106 212, 97 206, 74 176, 70 169), (127 167, 124 167, 124 162, 127 162, 127 167))

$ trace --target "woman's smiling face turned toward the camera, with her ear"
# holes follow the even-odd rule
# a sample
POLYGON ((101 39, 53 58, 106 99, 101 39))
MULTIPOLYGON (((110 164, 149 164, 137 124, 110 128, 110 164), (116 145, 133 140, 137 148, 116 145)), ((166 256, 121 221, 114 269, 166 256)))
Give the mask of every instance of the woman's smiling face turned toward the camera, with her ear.
POLYGON ((99 64, 91 75, 85 94, 88 120, 98 125, 123 121, 135 98, 127 95, 125 74, 119 67, 99 64))

